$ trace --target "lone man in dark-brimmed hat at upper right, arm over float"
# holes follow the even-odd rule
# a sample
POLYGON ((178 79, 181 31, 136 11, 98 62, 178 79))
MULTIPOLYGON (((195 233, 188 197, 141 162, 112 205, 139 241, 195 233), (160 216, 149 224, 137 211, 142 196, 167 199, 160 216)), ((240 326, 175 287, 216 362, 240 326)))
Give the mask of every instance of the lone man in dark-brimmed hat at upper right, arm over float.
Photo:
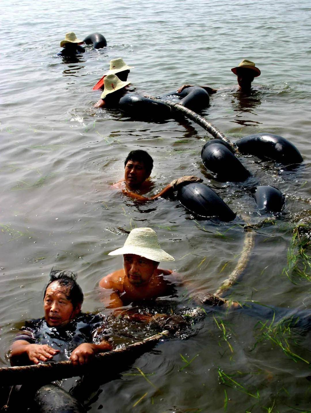
MULTIPOLYGON (((239 85, 239 91, 242 93, 249 93, 252 88, 252 81, 255 77, 260 76, 260 70, 258 67, 255 66, 254 62, 250 60, 242 60, 242 62, 237 67, 233 67, 231 71, 237 75, 237 83, 239 85)), ((192 85, 183 85, 181 86, 177 92, 180 93, 183 89, 188 88, 192 85)), ((216 93, 217 89, 211 89, 209 86, 200 86, 201 88, 205 89, 209 95, 211 93, 216 93)))

